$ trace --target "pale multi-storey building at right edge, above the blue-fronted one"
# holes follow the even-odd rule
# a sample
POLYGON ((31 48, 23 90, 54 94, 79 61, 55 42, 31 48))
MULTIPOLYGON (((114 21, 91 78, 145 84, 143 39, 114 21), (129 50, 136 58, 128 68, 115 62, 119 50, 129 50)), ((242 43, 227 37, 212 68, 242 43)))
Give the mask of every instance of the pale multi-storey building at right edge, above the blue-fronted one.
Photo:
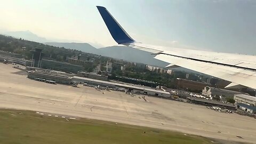
POLYGON ((256 97, 246 94, 235 94, 234 95, 235 103, 244 103, 250 106, 256 106, 256 97))

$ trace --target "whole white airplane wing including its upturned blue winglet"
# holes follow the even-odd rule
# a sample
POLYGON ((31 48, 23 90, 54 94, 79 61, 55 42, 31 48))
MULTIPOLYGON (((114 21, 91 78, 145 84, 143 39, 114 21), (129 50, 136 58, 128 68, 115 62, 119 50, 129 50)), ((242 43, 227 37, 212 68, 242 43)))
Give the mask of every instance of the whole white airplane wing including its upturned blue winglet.
POLYGON ((142 44, 134 41, 105 7, 97 6, 101 17, 118 44, 148 51, 155 59, 232 82, 227 87, 243 85, 256 89, 256 56, 207 52, 142 44))

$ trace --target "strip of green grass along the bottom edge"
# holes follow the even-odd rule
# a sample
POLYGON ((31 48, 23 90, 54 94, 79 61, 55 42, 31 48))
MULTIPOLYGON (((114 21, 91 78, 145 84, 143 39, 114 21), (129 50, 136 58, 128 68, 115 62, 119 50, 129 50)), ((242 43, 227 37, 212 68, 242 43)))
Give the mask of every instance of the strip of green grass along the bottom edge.
POLYGON ((194 135, 92 119, 0 110, 0 143, 211 143, 194 135), (145 133, 144 133, 145 132, 145 133))

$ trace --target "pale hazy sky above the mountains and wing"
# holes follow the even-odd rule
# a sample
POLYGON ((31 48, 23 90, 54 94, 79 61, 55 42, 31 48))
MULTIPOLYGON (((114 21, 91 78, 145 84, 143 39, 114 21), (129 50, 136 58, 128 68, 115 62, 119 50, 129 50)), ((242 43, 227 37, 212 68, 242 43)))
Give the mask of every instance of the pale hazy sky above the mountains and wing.
POLYGON ((105 6, 137 42, 256 54, 254 0, 0 0, 0 30, 47 39, 117 45, 96 5, 105 6))

